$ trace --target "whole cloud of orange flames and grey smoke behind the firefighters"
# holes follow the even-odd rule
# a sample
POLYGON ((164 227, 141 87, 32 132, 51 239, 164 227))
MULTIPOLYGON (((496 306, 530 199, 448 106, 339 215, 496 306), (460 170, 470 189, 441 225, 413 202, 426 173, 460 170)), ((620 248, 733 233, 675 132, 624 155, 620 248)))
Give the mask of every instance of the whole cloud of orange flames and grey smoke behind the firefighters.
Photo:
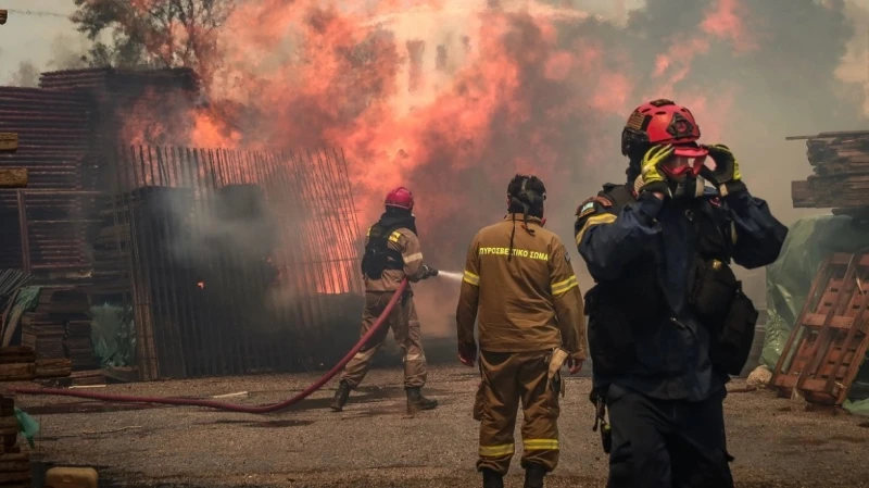
MULTIPOLYGON (((869 107, 853 67, 866 71, 866 14, 841 0, 648 0, 613 20, 553 7, 565 2, 288 3, 245 2, 228 20, 212 104, 186 142, 342 147, 362 224, 410 186, 434 267, 462 266, 520 171, 546 184, 546 225, 572 248, 576 205, 625 178, 620 132, 644 100, 690 107, 702 140, 730 146, 785 222, 813 211, 791 208, 790 180, 810 168, 784 137, 859 128, 869 107)), ((452 334, 455 293, 420 287, 427 334, 452 334)))

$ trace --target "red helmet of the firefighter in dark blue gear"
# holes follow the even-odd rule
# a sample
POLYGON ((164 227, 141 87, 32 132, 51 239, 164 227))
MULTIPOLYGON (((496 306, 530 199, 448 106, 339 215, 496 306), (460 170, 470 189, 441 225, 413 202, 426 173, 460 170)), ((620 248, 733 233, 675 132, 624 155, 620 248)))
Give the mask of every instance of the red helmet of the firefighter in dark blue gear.
POLYGON ((687 108, 658 99, 633 111, 621 132, 621 153, 645 152, 655 145, 684 145, 700 139, 700 126, 687 108))

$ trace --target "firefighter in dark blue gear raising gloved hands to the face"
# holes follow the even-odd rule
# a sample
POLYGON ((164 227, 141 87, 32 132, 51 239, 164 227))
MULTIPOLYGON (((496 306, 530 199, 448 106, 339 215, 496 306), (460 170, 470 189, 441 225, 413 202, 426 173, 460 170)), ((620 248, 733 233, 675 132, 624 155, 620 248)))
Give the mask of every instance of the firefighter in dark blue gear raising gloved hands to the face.
POLYGON ((748 192, 730 149, 700 135, 687 108, 642 104, 621 136, 627 183, 577 209, 608 488, 733 486, 725 385, 745 364, 757 311, 730 263, 772 263, 788 228, 748 192))

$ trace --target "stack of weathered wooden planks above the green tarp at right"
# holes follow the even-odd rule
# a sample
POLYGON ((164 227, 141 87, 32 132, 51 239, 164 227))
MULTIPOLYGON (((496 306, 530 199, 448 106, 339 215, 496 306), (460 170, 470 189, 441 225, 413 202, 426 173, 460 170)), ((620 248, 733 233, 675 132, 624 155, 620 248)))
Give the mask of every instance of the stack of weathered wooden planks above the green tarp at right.
POLYGON ((815 172, 791 183, 796 208, 869 207, 869 130, 821 133, 806 139, 806 157, 815 172))

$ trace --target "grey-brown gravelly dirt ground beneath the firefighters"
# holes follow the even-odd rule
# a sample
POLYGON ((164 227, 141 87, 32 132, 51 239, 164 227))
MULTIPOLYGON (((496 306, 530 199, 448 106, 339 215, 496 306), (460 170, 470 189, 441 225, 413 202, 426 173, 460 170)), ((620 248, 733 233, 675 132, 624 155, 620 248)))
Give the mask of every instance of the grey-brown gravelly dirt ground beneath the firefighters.
MULTIPOLYGON (((316 377, 162 381, 92 391, 199 398, 247 391, 226 401, 262 404, 282 400, 316 377)), ((35 455, 51 464, 95 466, 111 486, 458 487, 480 486, 474 471, 478 427, 470 416, 477 381, 474 370, 432 366, 427 393, 441 406, 415 417, 404 415, 399 370, 373 371, 341 413, 327 408, 336 381, 290 411, 260 416, 70 398, 17 402, 42 427, 35 455)), ((605 485, 606 458, 591 431, 589 389, 588 378, 567 380, 562 461, 549 487, 605 485)), ((726 410, 738 486, 869 486, 869 418, 806 412, 770 391, 733 392, 726 410)), ((520 476, 517 453, 507 486, 521 486, 520 476)))

